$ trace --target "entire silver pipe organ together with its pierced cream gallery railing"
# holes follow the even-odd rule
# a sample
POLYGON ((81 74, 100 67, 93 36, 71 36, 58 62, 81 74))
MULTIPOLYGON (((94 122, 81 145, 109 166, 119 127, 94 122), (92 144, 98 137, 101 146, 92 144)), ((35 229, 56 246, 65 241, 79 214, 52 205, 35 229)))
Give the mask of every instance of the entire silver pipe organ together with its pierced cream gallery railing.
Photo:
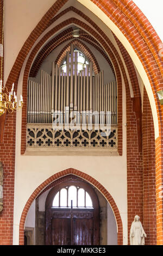
MULTIPOLYGON (((80 147, 83 145, 82 139, 86 139, 87 147, 91 145, 100 147, 101 139, 106 142, 104 145, 110 147, 109 136, 115 131, 112 142, 114 146, 111 147, 116 147, 116 130, 111 130, 111 126, 117 124, 116 81, 104 84, 104 72, 94 75, 92 62, 79 71, 78 52, 74 51, 73 45, 71 45, 71 51, 67 52, 66 64, 66 72, 54 62, 51 75, 41 70, 40 83, 32 78, 28 80, 28 147, 39 145, 37 138, 42 135, 37 132, 36 124, 51 124, 54 132, 51 130, 51 138, 48 139, 53 147, 57 145, 55 141, 57 131, 62 137, 62 142, 59 143, 62 147, 66 139, 70 142, 68 145, 73 146, 74 131, 78 133, 78 135, 76 133, 78 137, 76 144, 80 147), (71 58, 72 54, 73 58, 71 58), (32 130, 29 124, 35 124, 34 127, 31 126, 32 130), (84 138, 84 132, 87 138, 84 138), (94 144, 91 144, 92 134, 96 137, 94 144), (66 137, 67 135, 69 138, 66 137)), ((46 125, 42 127, 42 131, 38 131, 42 134, 46 133, 46 125)), ((42 140, 43 137, 40 139, 42 140)), ((45 139, 41 145, 46 143, 45 139)))

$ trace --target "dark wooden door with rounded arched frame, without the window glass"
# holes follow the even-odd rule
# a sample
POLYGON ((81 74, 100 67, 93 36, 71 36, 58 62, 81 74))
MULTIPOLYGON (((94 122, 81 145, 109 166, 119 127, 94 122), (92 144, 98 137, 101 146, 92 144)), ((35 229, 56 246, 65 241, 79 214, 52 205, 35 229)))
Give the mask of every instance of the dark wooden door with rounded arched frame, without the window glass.
POLYGON ((61 182, 46 199, 46 245, 99 245, 99 203, 95 191, 83 181, 61 182), (54 195, 65 186, 84 187, 92 207, 67 208, 52 206, 54 195))

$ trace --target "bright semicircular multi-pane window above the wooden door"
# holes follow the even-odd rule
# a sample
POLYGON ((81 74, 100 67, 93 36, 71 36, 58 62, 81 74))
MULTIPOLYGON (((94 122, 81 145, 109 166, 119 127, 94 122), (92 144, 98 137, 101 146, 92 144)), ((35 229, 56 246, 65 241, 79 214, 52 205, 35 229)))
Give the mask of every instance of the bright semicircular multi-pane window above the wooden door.
POLYGON ((79 186, 66 186, 61 188, 54 196, 53 207, 93 208, 92 199, 84 188, 79 186))

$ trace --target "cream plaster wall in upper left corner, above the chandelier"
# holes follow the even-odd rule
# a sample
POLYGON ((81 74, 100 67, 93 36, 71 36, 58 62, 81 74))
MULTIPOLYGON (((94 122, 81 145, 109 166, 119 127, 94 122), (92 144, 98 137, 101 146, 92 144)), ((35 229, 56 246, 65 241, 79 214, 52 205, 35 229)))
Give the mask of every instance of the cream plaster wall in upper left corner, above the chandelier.
POLYGON ((4 1, 4 82, 24 42, 55 2, 55 0, 4 1))

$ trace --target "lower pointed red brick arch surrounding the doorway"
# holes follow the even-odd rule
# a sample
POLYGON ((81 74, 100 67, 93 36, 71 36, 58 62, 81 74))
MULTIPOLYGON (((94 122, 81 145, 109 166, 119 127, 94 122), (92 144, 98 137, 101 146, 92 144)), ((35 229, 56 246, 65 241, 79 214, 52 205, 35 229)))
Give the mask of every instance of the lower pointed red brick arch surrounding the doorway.
POLYGON ((89 182, 93 186, 95 186, 103 194, 103 196, 106 198, 106 200, 108 200, 108 203, 110 204, 112 211, 114 212, 116 223, 117 223, 117 231, 118 231, 117 242, 118 242, 118 245, 123 245, 123 225, 122 225, 121 215, 120 215, 120 212, 117 208, 117 205, 116 205, 114 199, 111 197, 111 194, 103 187, 102 184, 100 184, 97 180, 92 178, 90 175, 83 173, 74 168, 62 170, 61 172, 52 175, 47 180, 42 182, 42 184, 40 186, 38 186, 35 189, 35 191, 32 193, 32 195, 29 197, 26 205, 24 206, 24 209, 23 209, 22 215, 21 215, 21 219, 20 219, 19 245, 24 244, 24 224, 26 221, 28 210, 29 210, 32 202, 52 182, 54 182, 55 180, 58 180, 59 178, 66 176, 66 175, 71 175, 71 174, 76 175, 76 176, 82 178, 83 180, 89 182))

